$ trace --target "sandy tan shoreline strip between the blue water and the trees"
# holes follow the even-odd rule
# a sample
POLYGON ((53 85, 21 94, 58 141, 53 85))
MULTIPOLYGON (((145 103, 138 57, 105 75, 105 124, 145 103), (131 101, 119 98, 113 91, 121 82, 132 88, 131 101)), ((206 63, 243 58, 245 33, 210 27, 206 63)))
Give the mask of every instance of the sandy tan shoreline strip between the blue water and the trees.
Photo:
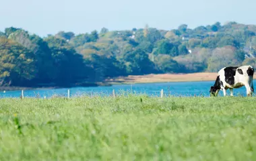
MULTIPOLYGON (((104 87, 112 85, 129 85, 142 83, 181 83, 216 80, 217 72, 195 72, 195 73, 178 73, 178 74, 145 74, 117 76, 115 78, 106 78, 104 82, 88 83, 87 85, 73 85, 67 87, 0 87, 0 91, 20 91, 20 90, 37 90, 37 89, 62 89, 73 87, 104 87)), ((253 79, 256 78, 254 74, 253 79)))

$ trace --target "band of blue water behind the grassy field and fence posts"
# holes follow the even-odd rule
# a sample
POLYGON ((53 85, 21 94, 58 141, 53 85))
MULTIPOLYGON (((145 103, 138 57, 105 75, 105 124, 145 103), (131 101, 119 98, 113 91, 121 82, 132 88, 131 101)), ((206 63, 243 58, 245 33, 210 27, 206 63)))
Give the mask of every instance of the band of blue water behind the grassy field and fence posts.
MULTIPOLYGON (((255 80, 253 80, 256 85, 255 80)), ((164 90, 164 95, 168 95, 168 88, 170 95, 174 96, 205 96, 209 97, 210 87, 214 85, 214 81, 199 81, 199 82, 184 82, 184 83, 144 83, 144 84, 133 84, 133 85, 113 85, 110 87, 74 87, 70 88, 70 97, 77 97, 81 95, 111 95, 113 89, 115 89, 116 95, 122 92, 133 92, 137 94, 146 94, 149 96, 160 96, 161 89, 164 90)), ((0 91, 0 97, 20 97, 21 91, 0 91)), ((229 95, 229 90, 227 91, 229 95)), ((67 97, 67 89, 34 89, 25 90, 24 97, 52 97, 53 95, 67 97)), ((219 93, 223 96, 222 91, 219 93)), ((234 95, 246 95, 245 87, 240 89, 234 89, 234 95)))

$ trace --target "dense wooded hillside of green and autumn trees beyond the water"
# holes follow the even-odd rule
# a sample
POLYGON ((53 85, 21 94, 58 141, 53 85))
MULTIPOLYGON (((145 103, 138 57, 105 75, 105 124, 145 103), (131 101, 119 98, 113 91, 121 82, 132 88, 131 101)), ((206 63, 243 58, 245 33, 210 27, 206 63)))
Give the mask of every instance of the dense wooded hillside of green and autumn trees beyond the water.
POLYGON ((0 86, 72 86, 150 73, 216 72, 256 65, 256 25, 186 24, 40 38, 22 28, 0 32, 0 86))

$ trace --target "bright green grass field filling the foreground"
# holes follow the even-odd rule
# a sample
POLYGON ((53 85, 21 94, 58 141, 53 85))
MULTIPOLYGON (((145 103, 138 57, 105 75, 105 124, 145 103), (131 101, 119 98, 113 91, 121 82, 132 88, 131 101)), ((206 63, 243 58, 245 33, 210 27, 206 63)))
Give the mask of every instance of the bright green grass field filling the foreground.
POLYGON ((256 97, 0 99, 0 160, 256 160, 256 97))

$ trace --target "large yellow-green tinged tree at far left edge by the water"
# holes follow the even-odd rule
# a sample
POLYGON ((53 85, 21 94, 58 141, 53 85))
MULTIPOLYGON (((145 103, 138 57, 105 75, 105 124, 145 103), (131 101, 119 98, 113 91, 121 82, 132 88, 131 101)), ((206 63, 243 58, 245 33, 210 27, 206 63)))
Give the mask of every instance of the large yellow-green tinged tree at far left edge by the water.
POLYGON ((30 86, 36 72, 32 52, 12 40, 0 38, 1 86, 30 86))

